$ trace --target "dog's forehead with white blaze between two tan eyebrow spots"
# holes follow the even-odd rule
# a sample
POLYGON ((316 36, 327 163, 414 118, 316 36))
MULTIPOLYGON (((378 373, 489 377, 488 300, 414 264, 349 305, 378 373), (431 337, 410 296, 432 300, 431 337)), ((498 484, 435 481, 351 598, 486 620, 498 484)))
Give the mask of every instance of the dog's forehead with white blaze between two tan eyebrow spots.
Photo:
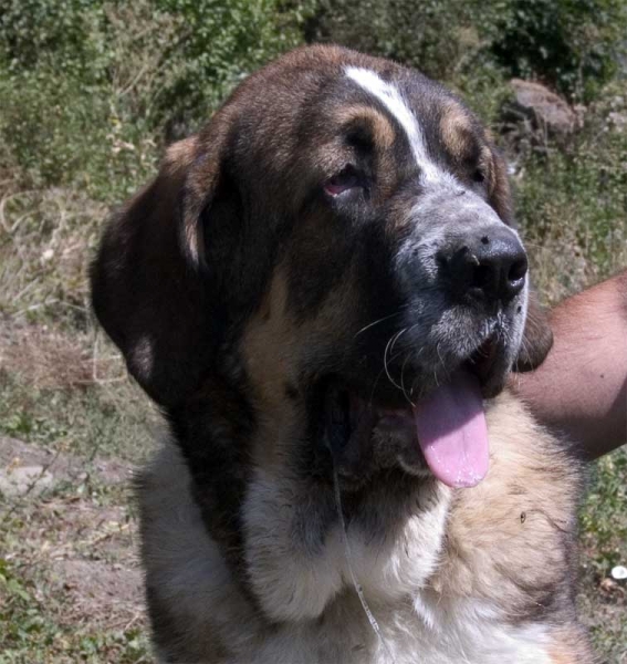
MULTIPOLYGON (((424 185, 453 184, 451 165, 477 163, 485 152, 481 125, 451 93, 417 72, 401 68, 344 64, 322 96, 325 125, 337 141, 367 137, 377 151, 394 148, 424 185)), ((310 110, 305 125, 317 108, 310 110)), ((454 168, 452 169, 454 170, 454 168)))

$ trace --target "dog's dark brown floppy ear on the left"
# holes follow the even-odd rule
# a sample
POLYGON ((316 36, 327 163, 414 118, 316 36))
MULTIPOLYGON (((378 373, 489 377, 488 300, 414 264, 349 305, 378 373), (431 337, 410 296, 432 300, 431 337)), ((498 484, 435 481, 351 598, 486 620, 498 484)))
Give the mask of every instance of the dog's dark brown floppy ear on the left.
POLYGON ((222 127, 215 118, 205 134, 168 149, 157 177, 106 228, 92 264, 96 317, 161 406, 189 394, 219 343, 219 276, 207 264, 203 226, 232 221, 222 127))

